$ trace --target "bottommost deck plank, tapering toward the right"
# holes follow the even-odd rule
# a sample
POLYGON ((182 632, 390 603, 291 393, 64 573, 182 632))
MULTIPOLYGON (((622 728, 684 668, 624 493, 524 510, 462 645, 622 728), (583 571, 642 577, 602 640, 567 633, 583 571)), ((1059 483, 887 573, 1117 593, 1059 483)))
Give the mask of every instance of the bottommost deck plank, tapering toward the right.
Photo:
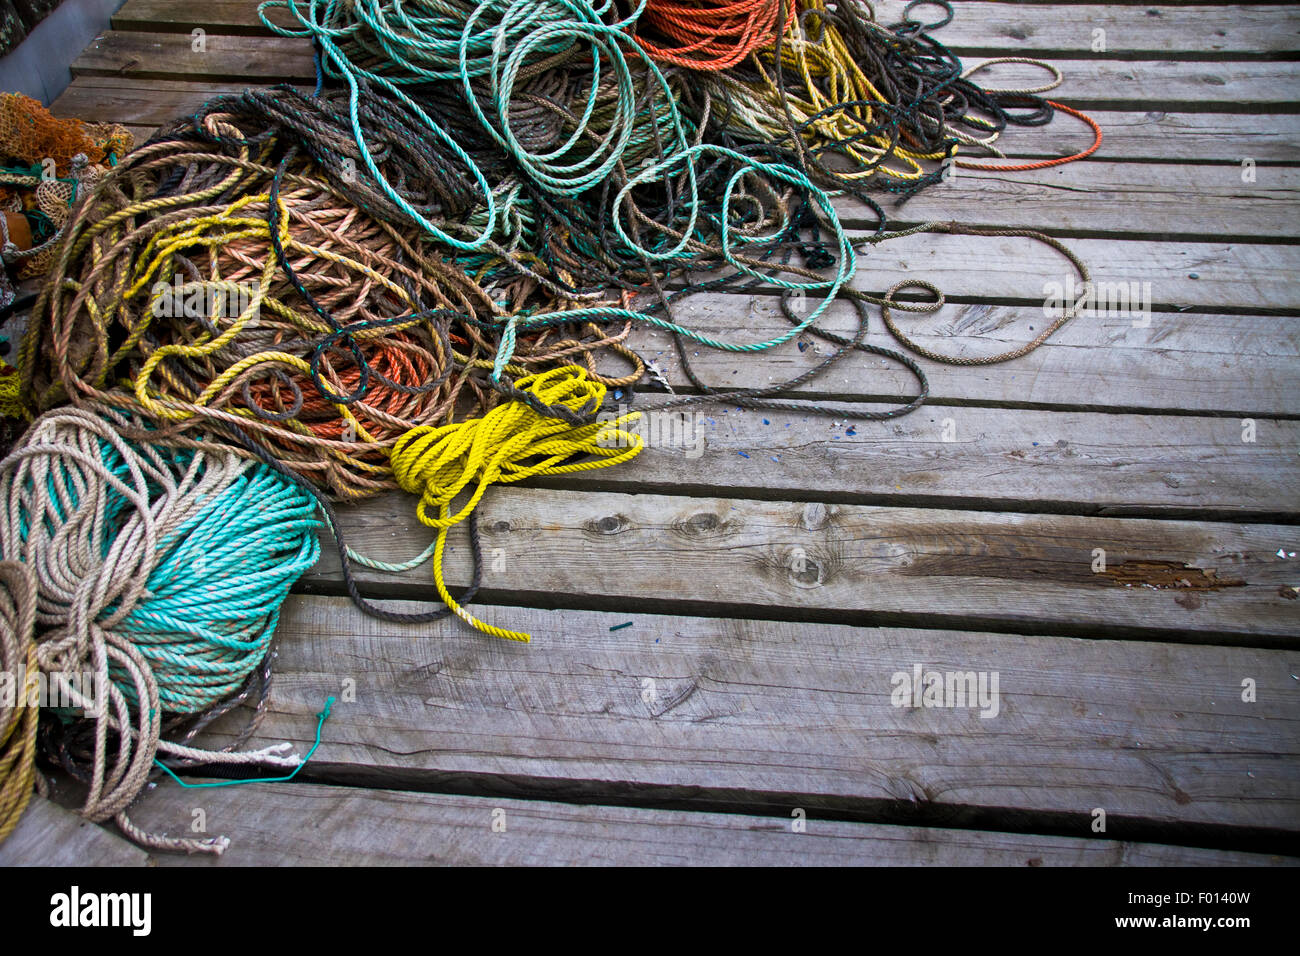
POLYGON ((220 857, 164 866, 1261 866, 1283 857, 979 830, 809 821, 304 784, 160 787, 135 818, 166 830, 195 804, 220 857), (495 816, 494 816, 495 814, 495 816), (504 830, 493 830, 500 821, 504 830))

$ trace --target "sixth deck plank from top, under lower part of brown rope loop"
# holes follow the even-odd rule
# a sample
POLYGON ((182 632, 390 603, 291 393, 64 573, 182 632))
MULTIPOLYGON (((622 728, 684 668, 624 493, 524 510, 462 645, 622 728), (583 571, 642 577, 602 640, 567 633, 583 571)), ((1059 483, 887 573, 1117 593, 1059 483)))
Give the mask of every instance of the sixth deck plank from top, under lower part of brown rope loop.
MULTIPOLYGON (((928 274, 928 273, 919 273, 928 274)), ((789 329, 770 295, 701 294, 676 311, 692 329, 732 342, 758 342, 789 329)), ((1030 341, 1041 313, 1024 306, 946 306, 927 319, 901 319, 918 343, 941 354, 992 355, 1030 341)), ((870 345, 897 347, 872 311, 870 345)), ((822 328, 855 330, 857 312, 833 304, 822 328)), ((1028 355, 993 365, 950 365, 920 359, 932 405, 1009 403, 1088 410, 1228 412, 1240 418, 1292 415, 1300 329, 1292 319, 1160 313, 1149 328, 1127 317, 1078 319, 1028 355)), ((685 384, 677 351, 664 332, 640 329, 629 345, 655 362, 673 388, 685 384)), ((783 381, 820 362, 831 346, 811 336, 770 349, 760 360, 737 362, 712 349, 688 349, 702 381, 716 388, 755 388, 783 381), (800 343, 803 351, 800 351, 800 343), (820 350, 820 351, 818 351, 820 350), (698 354, 697 354, 698 352, 698 354)), ((599 363, 611 373, 623 365, 599 363)), ((888 401, 915 394, 911 372, 867 355, 842 359, 838 371, 814 380, 802 394, 844 401, 888 401)), ((655 401, 647 398, 646 401, 655 401)), ((945 412, 946 415, 946 412, 945 412)))

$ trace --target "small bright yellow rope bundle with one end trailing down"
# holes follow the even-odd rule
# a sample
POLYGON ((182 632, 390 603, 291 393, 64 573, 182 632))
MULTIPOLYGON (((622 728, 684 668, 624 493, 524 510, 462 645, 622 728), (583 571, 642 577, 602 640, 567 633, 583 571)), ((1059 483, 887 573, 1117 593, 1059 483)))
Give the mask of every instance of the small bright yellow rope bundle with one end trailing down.
MULTIPOLYGON (((578 365, 563 365, 519 378, 516 386, 550 406, 590 412, 604 402, 604 385, 588 377, 578 365)), ((452 425, 421 425, 403 434, 393 446, 393 475, 403 490, 420 496, 416 514, 438 529, 433 551, 433 579, 447 607, 471 627, 512 641, 529 635, 506 631, 474 618, 458 605, 442 579, 442 550, 451 525, 463 522, 478 506, 489 485, 520 481, 534 475, 566 475, 608 468, 641 454, 641 436, 625 425, 641 412, 627 412, 610 421, 571 425, 534 411, 524 402, 506 402, 481 419, 452 425), (582 460, 577 457, 589 455, 582 460), (451 502, 474 484, 469 501, 455 514, 451 502)))

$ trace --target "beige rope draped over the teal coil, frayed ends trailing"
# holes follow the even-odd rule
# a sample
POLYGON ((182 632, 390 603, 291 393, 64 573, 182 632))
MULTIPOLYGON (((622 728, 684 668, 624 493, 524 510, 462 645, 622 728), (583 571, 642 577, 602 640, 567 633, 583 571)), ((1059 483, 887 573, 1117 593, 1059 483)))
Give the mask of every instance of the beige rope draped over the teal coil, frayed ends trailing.
MULTIPOLYGON (((30 578, 35 600, 20 592, 23 597, 10 598, 10 605, 35 619, 34 661, 47 678, 48 695, 94 723, 92 771, 82 816, 113 819, 146 847, 221 853, 228 844, 224 836, 166 838, 144 832, 126 817, 155 758, 292 767, 298 757, 283 756, 290 744, 228 753, 162 740, 162 705, 153 670, 114 624, 148 596, 146 583, 159 559, 159 542, 234 476, 255 466, 213 446, 208 454, 194 455, 177 477, 157 449, 127 444, 105 416, 122 427, 133 423, 107 408, 99 414, 91 408, 43 415, 0 462, 0 555, 23 562, 21 572, 9 571, 0 581, 21 583, 23 574, 30 578), (105 466, 101 442, 126 462, 126 475, 114 475, 105 466), (68 473, 73 475, 70 483, 68 473), (69 484, 75 486, 75 502, 66 499, 69 484), (105 520, 110 492, 130 505, 129 514, 118 515, 112 528, 105 520), (21 528, 25 515, 32 519, 21 528)), ((6 566, 9 562, 0 564, 6 566)), ((0 615, 3 611, 0 602, 0 615)), ((18 619, 25 620, 22 614, 18 619)))

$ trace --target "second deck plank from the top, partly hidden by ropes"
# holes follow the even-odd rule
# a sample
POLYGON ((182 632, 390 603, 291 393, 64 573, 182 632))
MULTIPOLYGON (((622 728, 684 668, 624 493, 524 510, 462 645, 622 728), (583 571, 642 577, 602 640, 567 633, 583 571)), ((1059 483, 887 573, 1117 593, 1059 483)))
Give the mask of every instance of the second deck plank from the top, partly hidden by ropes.
MULTIPOLYGON (((191 56, 192 38, 188 33, 159 33, 150 36, 165 57, 181 57, 191 75, 216 83, 248 83, 247 74, 233 69, 234 64, 222 57, 195 59, 191 56)), ((309 51, 307 40, 299 40, 300 49, 309 51)), ((240 40, 240 49, 247 56, 257 57, 255 75, 274 75, 277 82, 291 82, 304 86, 315 83, 315 69, 309 59, 300 56, 285 57, 282 42, 273 38, 247 36, 240 40), (278 72, 277 72, 278 70, 278 72)), ((975 65, 978 60, 968 61, 975 65)), ((101 88, 112 83, 143 85, 155 83, 160 87, 177 82, 170 77, 153 78, 135 74, 103 75, 104 69, 121 69, 126 60, 114 64, 98 61, 91 69, 94 74, 82 74, 73 65, 73 74, 87 82, 95 82, 101 88)), ((1294 62, 1266 61, 1225 61, 1225 62, 1182 62, 1182 61, 1132 61, 1115 62, 1102 59, 1070 60, 1057 64, 1065 70, 1066 83, 1053 96, 1066 103, 1097 111, 1180 111, 1251 113, 1264 112, 1294 113, 1297 109, 1290 91, 1295 88, 1300 65, 1294 62)), ((166 74, 160 74, 165 77, 166 74)), ((982 74, 982 81, 991 87, 1015 87, 1037 85, 1043 72, 1017 64, 1000 64, 982 74)), ((194 81, 190 81, 194 82, 194 81)), ((1065 118, 1050 129, 1053 134, 1063 131, 1065 118)))

